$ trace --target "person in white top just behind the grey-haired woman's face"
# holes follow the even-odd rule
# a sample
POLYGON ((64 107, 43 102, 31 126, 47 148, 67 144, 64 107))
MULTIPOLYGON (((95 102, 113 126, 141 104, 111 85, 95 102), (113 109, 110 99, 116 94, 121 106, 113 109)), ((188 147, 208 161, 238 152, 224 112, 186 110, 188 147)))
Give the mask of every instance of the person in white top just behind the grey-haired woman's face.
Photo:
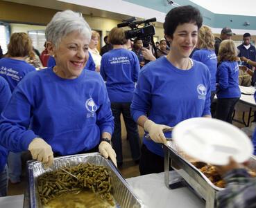
POLYGON ((97 50, 99 38, 100 38, 99 32, 92 30, 92 37, 91 37, 91 41, 89 42, 89 53, 91 53, 92 59, 94 60, 94 63, 96 66, 95 68, 96 72, 99 72, 101 68, 101 55, 97 50))

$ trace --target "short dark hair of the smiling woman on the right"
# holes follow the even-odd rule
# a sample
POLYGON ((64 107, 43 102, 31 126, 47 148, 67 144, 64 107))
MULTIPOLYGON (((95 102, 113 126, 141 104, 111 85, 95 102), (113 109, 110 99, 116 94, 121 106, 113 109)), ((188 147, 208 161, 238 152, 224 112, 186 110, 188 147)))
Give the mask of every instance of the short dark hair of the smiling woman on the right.
POLYGON ((173 37, 177 26, 183 23, 195 23, 199 28, 202 26, 203 17, 200 11, 193 6, 180 6, 173 8, 167 13, 164 21, 164 34, 173 37))

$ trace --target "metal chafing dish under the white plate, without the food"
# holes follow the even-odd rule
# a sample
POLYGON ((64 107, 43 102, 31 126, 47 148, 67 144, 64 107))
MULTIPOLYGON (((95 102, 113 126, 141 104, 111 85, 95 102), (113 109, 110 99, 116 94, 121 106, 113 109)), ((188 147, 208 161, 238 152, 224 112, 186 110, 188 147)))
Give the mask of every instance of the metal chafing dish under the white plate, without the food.
MULTIPOLYGON (((194 162, 194 160, 180 151, 175 142, 169 141, 167 146, 164 145, 165 185, 170 188, 169 167, 172 167, 187 182, 192 190, 196 192, 196 195, 205 200, 205 207, 213 208, 216 192, 223 190, 223 188, 216 187, 191 162, 194 162)), ((255 156, 251 156, 248 167, 256 170, 255 156)))

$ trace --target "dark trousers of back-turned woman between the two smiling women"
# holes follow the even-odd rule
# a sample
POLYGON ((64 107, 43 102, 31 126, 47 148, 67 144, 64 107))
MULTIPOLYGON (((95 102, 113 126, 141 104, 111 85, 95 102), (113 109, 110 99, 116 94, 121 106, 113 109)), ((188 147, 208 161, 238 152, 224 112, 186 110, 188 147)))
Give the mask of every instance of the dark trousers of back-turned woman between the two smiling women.
POLYGON ((122 144, 121 144, 121 120, 120 115, 123 114, 123 120, 126 124, 127 138, 130 143, 130 151, 133 160, 139 160, 139 133, 136 122, 130 115, 130 102, 112 102, 111 109, 114 115, 114 133, 112 135, 113 149, 117 153, 117 162, 123 162, 122 144))

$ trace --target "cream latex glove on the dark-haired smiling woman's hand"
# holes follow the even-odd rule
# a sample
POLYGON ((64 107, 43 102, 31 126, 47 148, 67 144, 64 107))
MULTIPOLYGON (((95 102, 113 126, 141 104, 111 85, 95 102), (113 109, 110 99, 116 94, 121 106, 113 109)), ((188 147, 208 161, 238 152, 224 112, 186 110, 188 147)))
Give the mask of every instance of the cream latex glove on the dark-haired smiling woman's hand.
POLYGON ((167 144, 167 138, 165 138, 162 131, 168 128, 171 127, 162 124, 155 124, 155 122, 151 120, 146 120, 144 123, 144 130, 149 133, 151 140, 157 143, 167 144))

